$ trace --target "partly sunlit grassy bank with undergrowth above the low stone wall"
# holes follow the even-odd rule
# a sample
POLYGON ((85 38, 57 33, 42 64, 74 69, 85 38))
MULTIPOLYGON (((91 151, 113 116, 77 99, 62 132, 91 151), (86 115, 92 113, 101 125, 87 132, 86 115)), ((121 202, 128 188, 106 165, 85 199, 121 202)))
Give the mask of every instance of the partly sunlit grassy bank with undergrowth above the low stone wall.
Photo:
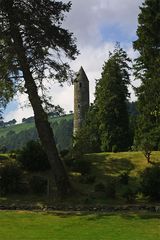
MULTIPOLYGON (((152 161, 160 162, 160 152, 152 153, 152 161)), ((81 160, 81 159, 80 159, 81 160)), ((70 169, 70 179, 75 194, 59 199, 52 192, 40 195, 19 194, 0 197, 0 204, 54 205, 119 205, 150 204, 150 199, 141 194, 140 173, 151 166, 141 152, 93 153, 85 155, 83 161, 90 165, 88 173, 81 174, 70 169)), ((81 166, 84 168, 85 165, 81 166)), ((157 202, 153 202, 157 204, 157 202)))

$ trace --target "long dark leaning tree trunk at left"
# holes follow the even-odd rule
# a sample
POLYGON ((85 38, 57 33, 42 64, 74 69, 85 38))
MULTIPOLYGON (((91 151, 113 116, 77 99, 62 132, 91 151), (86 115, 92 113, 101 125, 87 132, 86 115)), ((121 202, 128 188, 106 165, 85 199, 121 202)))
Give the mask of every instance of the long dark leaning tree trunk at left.
POLYGON ((53 131, 50 123, 48 122, 48 116, 42 107, 42 102, 38 95, 37 86, 30 71, 21 34, 19 32, 18 26, 14 24, 14 18, 12 19, 11 15, 9 17, 11 35, 14 40, 18 59, 23 71, 25 87, 27 89, 29 100, 34 111, 35 125, 38 131, 38 135, 42 146, 44 147, 44 150, 48 156, 57 190, 61 196, 67 195, 71 192, 69 178, 58 155, 53 131))

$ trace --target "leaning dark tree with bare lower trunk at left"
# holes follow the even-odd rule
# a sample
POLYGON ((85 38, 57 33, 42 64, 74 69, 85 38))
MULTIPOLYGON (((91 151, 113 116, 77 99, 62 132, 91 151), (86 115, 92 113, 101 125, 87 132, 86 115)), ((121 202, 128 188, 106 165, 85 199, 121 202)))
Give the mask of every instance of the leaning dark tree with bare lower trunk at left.
POLYGON ((46 99, 39 96, 38 87, 44 91, 46 77, 61 83, 68 79, 69 66, 62 63, 60 56, 74 59, 77 54, 72 34, 62 27, 64 13, 70 7, 70 2, 52 0, 0 1, 1 82, 4 86, 11 82, 14 89, 28 94, 39 138, 60 194, 66 194, 71 187, 42 106, 46 99))

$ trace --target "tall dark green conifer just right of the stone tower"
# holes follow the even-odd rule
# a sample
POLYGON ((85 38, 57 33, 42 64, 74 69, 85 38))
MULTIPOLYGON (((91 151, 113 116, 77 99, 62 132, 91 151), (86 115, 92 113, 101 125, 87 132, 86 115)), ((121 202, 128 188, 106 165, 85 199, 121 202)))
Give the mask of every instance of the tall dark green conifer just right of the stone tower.
POLYGON ((97 82, 95 107, 102 151, 124 151, 130 146, 127 111, 130 59, 117 44, 97 82))

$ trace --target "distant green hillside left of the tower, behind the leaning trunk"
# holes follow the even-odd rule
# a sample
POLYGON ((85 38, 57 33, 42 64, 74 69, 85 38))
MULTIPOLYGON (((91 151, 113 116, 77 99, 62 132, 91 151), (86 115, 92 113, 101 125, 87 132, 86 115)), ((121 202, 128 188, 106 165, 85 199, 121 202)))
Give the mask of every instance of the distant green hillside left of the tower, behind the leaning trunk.
MULTIPOLYGON (((67 149, 72 142, 73 114, 50 117, 55 140, 59 150, 67 149)), ((0 128, 0 146, 7 150, 21 149, 29 140, 38 139, 35 123, 21 123, 0 128)))

